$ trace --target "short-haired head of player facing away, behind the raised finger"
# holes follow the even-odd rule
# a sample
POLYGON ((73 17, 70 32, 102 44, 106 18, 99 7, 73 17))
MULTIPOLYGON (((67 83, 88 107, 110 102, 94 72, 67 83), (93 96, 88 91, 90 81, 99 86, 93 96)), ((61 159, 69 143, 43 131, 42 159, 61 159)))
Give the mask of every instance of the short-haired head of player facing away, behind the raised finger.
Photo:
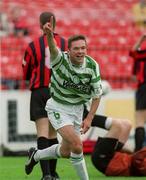
POLYGON ((56 18, 55 15, 52 12, 42 12, 40 14, 40 24, 43 26, 47 22, 50 22, 50 18, 53 16, 53 29, 55 28, 56 25, 56 18))

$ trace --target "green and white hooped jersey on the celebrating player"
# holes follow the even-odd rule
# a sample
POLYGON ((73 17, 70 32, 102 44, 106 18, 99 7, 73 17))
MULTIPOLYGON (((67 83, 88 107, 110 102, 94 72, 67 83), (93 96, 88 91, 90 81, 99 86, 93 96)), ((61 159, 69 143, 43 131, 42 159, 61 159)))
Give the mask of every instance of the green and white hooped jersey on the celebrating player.
POLYGON ((74 66, 66 52, 51 61, 51 96, 62 104, 83 104, 102 95, 99 65, 86 56, 81 67, 74 66))

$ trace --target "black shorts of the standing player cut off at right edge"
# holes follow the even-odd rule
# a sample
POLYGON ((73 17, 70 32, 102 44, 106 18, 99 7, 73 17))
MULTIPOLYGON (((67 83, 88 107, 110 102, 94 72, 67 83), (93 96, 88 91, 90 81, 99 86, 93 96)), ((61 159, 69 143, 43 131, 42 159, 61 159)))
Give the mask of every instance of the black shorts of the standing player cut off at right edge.
POLYGON ((146 110, 146 84, 141 85, 136 91, 136 110, 146 110))

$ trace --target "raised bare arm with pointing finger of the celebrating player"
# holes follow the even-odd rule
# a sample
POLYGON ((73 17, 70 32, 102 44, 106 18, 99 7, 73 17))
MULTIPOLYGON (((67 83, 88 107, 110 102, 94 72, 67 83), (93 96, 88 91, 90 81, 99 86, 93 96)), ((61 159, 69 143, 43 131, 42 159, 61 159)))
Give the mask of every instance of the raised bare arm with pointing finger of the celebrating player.
POLYGON ((51 56, 51 60, 56 59, 56 57, 58 56, 58 48, 56 46, 56 43, 54 41, 54 37, 53 37, 53 16, 51 17, 50 22, 47 22, 44 26, 43 26, 43 30, 47 35, 47 40, 48 40, 48 45, 49 45, 49 49, 50 49, 50 56, 51 56))

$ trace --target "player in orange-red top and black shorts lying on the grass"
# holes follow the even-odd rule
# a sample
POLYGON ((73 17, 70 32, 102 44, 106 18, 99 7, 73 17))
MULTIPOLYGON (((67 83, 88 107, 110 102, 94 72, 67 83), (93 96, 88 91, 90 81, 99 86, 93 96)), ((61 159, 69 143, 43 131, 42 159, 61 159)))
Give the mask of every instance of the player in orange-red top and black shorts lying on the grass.
POLYGON ((132 154, 121 151, 129 137, 130 122, 105 116, 100 119, 94 119, 92 126, 109 131, 105 137, 98 137, 92 152, 95 168, 106 176, 146 176, 146 147, 132 154))

